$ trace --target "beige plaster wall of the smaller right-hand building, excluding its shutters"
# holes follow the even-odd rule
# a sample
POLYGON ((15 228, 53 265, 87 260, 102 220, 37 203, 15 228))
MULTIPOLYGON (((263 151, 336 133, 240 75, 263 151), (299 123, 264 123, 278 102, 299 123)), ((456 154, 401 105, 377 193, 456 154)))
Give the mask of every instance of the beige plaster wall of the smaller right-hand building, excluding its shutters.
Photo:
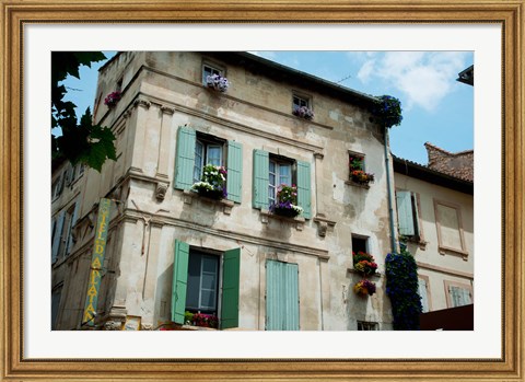
POLYGON ((469 291, 474 302, 474 197, 398 172, 396 190, 415 193, 421 227, 420 240, 408 250, 427 281, 429 310, 453 308, 451 286, 469 291))

